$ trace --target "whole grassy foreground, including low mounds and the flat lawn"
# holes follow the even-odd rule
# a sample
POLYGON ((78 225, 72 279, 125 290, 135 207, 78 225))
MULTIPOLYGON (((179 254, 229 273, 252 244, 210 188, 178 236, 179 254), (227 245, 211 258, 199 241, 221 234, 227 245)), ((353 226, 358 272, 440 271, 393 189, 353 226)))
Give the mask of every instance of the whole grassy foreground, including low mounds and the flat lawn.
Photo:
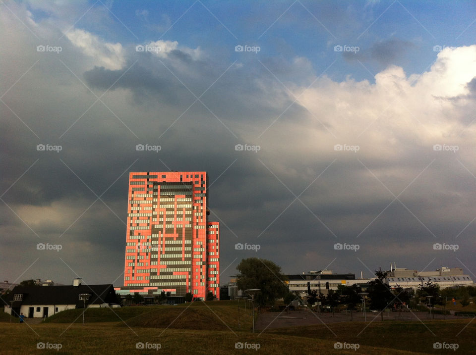
MULTIPOLYGON (((341 322, 250 332, 251 316, 233 302, 86 310, 51 316, 39 324, 7 323, 1 314, 1 354, 476 354, 471 319, 341 322), (120 319, 119 319, 119 317, 120 319), (468 325, 468 323, 470 323, 468 325), (466 328, 465 328, 466 326, 466 328), (358 349, 335 349, 336 342, 358 349), (433 343, 458 344, 457 352, 433 343), (44 343, 50 350, 37 350, 44 343), (136 344, 144 348, 136 349, 136 344), (236 349, 236 344, 255 349, 236 349), (57 345, 59 344, 59 345, 57 345), (155 346, 155 344, 160 344, 155 346), (60 348, 58 350, 54 348, 60 348), (356 347, 356 346, 354 346, 356 347)), ((6 315, 6 317, 4 317, 6 315)), ((28 320, 27 320, 28 321, 28 320)), ((345 345, 344 345, 345 346, 345 345)))

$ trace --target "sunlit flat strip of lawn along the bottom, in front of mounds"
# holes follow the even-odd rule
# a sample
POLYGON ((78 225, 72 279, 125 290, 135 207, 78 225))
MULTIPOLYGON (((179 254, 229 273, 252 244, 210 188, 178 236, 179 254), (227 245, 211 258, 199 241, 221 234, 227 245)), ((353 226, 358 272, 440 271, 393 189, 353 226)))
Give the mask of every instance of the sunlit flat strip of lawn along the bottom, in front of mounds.
MULTIPOLYGON (((361 346, 357 352, 334 349, 334 340, 315 340, 276 334, 233 333, 231 331, 180 330, 155 328, 114 327, 110 323, 94 323, 81 327, 73 324, 44 323, 0 324, 1 354, 35 354, 37 343, 60 344, 59 351, 50 350, 38 354, 174 354, 174 355, 315 355, 315 354, 412 354, 385 348, 361 346), (36 334, 35 334, 36 332, 36 334), (38 335, 37 335, 38 334, 38 335), (137 350, 136 344, 160 344, 160 351, 137 350), (259 350, 236 349, 237 342, 259 344, 259 350)), ((413 353, 415 354, 415 353, 413 353)))

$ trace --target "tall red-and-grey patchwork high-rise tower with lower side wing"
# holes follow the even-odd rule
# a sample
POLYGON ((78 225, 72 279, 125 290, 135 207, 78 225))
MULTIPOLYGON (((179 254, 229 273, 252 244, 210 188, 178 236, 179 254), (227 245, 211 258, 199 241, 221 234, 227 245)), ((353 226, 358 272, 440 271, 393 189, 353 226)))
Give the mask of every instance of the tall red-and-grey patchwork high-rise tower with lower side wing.
POLYGON ((129 174, 124 287, 180 299, 220 298, 220 226, 208 221, 205 171, 129 174))

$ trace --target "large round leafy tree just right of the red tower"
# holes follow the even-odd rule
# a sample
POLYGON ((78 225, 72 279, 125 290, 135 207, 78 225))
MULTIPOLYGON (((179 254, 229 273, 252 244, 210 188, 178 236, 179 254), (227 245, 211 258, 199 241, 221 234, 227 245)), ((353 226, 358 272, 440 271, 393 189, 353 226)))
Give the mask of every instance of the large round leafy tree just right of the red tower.
POLYGON ((289 292, 284 282, 287 277, 281 274, 281 267, 270 260, 257 257, 242 259, 237 270, 240 272, 237 277, 239 290, 260 289, 254 296, 257 304, 272 305, 289 292))

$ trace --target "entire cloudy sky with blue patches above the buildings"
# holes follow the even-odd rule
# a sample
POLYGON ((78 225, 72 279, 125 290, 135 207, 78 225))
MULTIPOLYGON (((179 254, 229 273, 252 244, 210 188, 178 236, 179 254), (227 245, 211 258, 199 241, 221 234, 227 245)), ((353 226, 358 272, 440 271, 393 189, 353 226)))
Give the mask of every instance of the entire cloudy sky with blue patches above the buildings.
POLYGON ((178 170, 221 284, 476 280, 475 31, 473 1, 2 0, 0 278, 122 285, 128 172, 178 170))

